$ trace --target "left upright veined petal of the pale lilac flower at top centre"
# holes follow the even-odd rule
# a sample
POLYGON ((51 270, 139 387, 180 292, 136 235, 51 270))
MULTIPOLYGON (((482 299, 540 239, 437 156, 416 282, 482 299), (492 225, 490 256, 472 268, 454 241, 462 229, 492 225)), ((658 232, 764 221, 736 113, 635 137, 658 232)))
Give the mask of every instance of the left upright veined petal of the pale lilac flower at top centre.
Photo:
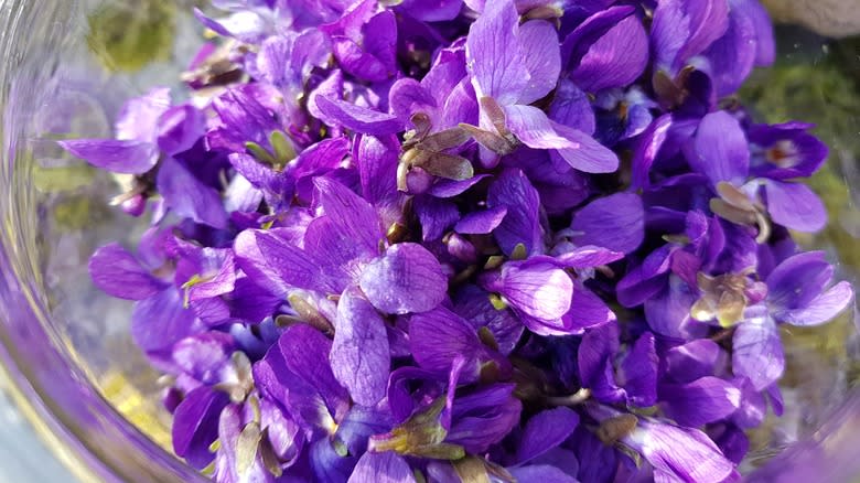
POLYGON ((528 85, 528 66, 520 51, 519 14, 512 0, 491 2, 472 23, 466 37, 466 66, 477 97, 499 105, 515 103, 528 85))

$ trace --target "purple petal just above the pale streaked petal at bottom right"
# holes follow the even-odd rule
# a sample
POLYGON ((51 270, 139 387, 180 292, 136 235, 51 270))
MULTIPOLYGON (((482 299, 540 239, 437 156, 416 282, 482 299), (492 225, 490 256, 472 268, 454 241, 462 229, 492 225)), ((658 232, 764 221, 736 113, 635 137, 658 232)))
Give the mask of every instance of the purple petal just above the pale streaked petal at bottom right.
POLYGON ((718 377, 659 388, 666 416, 681 426, 698 428, 729 417, 741 405, 741 390, 718 377))

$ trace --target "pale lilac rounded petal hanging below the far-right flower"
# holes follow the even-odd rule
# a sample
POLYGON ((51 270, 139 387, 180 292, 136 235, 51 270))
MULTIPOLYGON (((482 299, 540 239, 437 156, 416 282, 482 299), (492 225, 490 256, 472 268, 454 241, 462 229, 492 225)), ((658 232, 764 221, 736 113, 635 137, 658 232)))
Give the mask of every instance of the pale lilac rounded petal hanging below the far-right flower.
POLYGON ((783 343, 770 318, 741 322, 734 331, 732 345, 732 371, 750 379, 755 390, 763 390, 783 375, 783 343))

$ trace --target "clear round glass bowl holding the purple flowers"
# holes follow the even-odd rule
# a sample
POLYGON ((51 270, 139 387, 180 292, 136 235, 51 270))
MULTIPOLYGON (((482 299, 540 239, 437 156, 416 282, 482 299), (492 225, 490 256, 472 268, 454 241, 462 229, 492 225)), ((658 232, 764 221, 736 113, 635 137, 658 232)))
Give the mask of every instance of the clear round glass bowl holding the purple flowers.
MULTIPOLYGON (((54 481, 65 471, 79 481, 204 481, 170 452, 159 374, 130 340, 131 304, 95 289, 86 269, 97 246, 131 244, 146 222, 108 206, 121 180, 55 142, 107 137, 127 97, 153 85, 179 86, 182 66, 203 42, 190 14, 196 3, 0 0, 0 387, 26 417, 20 431, 41 440, 21 451, 33 462, 24 465, 30 479, 54 481)), ((856 281, 860 212, 858 191, 849 186, 860 181, 859 44, 794 28, 777 34, 777 65, 756 72, 741 97, 763 120, 819 124, 832 152, 814 184, 831 219, 821 235, 802 242, 827 249, 856 281)), ((788 447, 800 451, 792 443, 806 438, 824 447, 828 418, 846 421, 832 430, 843 438, 839 446, 860 442, 843 434, 860 434, 860 418, 852 417, 851 387, 860 375, 852 315, 818 330, 785 331, 789 410, 752 434, 742 471, 788 447)), ((7 426, 0 441, 15 438, 13 429, 7 426)), ((816 453, 816 461, 828 454, 816 453)), ((842 457, 845 475, 860 475, 858 462, 842 457)))

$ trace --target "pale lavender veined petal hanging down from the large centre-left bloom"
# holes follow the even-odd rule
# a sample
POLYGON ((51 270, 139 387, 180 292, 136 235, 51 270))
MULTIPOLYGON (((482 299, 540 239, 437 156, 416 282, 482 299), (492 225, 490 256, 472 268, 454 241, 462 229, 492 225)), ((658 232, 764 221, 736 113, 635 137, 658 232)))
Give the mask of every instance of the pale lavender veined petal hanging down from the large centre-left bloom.
POLYGON ((345 291, 337 302, 329 359, 334 377, 357 404, 374 406, 385 396, 391 365, 385 320, 353 290, 345 291))

